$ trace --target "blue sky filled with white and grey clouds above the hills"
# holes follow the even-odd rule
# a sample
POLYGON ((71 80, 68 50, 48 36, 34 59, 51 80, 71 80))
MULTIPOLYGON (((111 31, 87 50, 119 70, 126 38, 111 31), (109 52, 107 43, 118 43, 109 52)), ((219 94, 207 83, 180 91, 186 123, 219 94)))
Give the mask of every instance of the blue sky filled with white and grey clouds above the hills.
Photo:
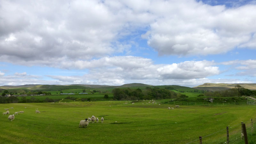
POLYGON ((0 0, 0 85, 256 83, 255 0, 0 0))

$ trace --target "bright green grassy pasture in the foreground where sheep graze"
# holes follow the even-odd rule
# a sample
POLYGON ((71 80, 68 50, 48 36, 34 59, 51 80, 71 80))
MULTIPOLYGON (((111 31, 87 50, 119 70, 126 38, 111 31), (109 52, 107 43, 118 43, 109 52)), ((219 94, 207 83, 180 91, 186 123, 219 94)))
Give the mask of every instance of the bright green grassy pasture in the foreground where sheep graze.
MULTIPOLYGON (((67 103, 0 104, 1 112, 24 111, 8 121, 0 115, 0 143, 188 143, 213 132, 256 117, 252 105, 181 106, 153 105, 146 101, 93 101, 67 103), (144 104, 142 104, 144 103, 144 104), (24 108, 27 107, 27 108, 24 108), (38 108, 41 114, 36 114, 38 108), (79 128, 80 120, 92 115, 104 123, 79 128)), ((239 127, 238 127, 239 128, 239 127)), ((231 129, 232 130, 232 129, 231 129)), ((225 136, 225 131, 220 133, 225 136)), ((211 137, 212 141, 220 137, 211 137)), ((239 143, 239 141, 236 141, 239 143)))

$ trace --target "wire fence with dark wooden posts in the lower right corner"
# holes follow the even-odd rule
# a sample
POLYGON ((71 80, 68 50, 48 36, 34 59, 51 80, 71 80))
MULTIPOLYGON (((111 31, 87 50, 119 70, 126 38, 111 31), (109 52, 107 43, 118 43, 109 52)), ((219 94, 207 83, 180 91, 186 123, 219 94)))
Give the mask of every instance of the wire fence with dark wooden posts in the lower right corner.
POLYGON ((256 143, 255 132, 253 135, 254 125, 256 124, 253 125, 255 118, 253 119, 237 125, 227 126, 206 136, 198 136, 198 139, 189 141, 186 144, 248 144, 248 141, 256 143))

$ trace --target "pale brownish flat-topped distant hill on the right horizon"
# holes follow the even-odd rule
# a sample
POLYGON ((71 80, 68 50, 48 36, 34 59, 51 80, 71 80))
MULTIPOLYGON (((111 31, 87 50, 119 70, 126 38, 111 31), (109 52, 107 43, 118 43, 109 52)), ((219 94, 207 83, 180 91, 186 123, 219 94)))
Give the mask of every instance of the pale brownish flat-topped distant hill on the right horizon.
MULTIPOLYGON (((212 83, 205 83, 202 85, 198 85, 194 87, 198 90, 209 90, 209 91, 222 91, 227 89, 235 88, 237 84, 212 84, 212 83)), ((249 90, 256 90, 256 84, 239 84, 243 88, 249 89, 249 90)))

